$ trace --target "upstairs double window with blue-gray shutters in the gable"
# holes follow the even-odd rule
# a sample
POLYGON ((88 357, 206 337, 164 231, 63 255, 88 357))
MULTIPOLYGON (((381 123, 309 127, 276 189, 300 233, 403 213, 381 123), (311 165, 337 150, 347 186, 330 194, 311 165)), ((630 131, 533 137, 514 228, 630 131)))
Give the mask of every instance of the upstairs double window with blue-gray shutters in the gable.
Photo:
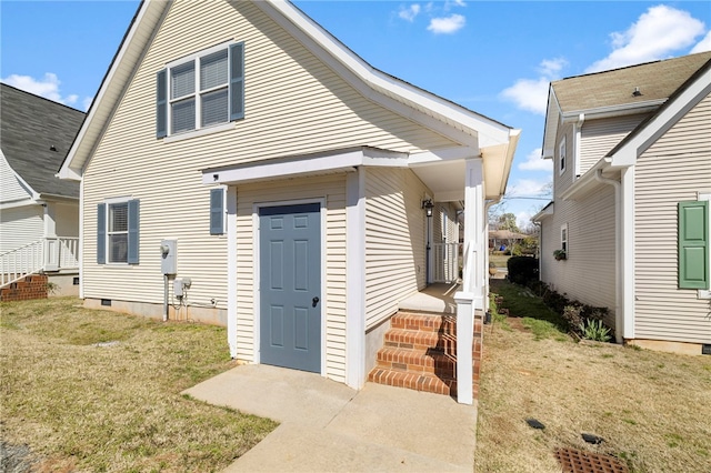
POLYGON ((168 64, 157 78, 157 137, 244 118, 244 43, 168 64))

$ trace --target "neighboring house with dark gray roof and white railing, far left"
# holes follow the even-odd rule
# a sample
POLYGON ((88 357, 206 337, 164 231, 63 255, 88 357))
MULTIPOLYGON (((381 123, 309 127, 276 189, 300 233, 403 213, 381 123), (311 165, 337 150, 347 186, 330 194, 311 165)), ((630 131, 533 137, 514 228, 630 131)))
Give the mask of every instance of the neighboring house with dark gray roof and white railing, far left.
POLYGON ((79 184, 56 174, 84 113, 4 83, 0 103, 0 285, 44 272, 78 294, 79 184))

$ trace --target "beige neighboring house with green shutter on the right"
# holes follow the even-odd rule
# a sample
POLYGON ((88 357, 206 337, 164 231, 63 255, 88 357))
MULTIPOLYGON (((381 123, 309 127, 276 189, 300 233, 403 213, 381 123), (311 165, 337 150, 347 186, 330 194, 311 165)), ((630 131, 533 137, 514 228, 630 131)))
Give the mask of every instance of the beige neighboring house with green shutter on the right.
POLYGON ((711 52, 551 83, 541 279, 609 308, 618 342, 711 349, 710 91, 711 52))

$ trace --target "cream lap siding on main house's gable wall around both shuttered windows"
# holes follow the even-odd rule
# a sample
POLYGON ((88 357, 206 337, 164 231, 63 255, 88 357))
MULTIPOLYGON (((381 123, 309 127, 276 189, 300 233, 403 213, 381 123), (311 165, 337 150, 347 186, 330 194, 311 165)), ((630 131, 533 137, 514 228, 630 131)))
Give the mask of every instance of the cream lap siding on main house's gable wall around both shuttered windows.
POLYGON ((189 302, 226 308, 227 239, 210 235, 206 168, 331 149, 398 151, 454 143, 392 113, 340 80, 250 2, 176 1, 130 81, 84 173, 84 295, 162 304, 160 241, 178 239, 189 302), (234 129, 156 139, 156 73, 229 40, 246 42, 246 118, 234 129), (140 264, 96 263, 97 203, 139 199, 140 264))

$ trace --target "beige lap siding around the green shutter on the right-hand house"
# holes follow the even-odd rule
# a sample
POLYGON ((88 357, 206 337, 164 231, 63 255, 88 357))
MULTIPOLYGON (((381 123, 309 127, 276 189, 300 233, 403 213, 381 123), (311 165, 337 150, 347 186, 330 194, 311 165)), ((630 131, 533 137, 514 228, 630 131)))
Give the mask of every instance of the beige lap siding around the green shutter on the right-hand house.
POLYGON ((677 203, 711 192, 711 98, 638 159, 635 190, 635 338, 711 343, 709 301, 677 289, 677 203))

